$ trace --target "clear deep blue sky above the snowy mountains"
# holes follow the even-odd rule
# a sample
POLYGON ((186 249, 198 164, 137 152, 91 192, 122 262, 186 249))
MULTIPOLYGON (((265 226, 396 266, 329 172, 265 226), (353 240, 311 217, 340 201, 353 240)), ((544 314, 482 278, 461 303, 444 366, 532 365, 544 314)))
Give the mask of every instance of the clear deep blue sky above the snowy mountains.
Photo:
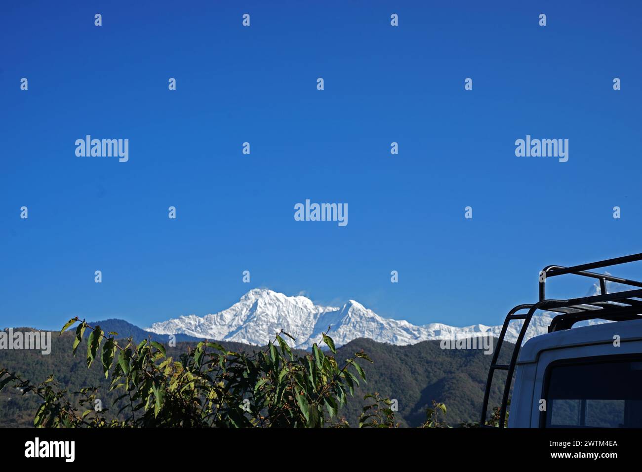
POLYGON ((498 324, 544 265, 642 252, 641 21, 639 2, 3 2, 0 326, 148 326, 257 286, 498 324), (129 161, 76 157, 87 134, 129 161), (569 161, 516 157, 526 134, 569 161), (306 198, 348 225, 295 222, 306 198))

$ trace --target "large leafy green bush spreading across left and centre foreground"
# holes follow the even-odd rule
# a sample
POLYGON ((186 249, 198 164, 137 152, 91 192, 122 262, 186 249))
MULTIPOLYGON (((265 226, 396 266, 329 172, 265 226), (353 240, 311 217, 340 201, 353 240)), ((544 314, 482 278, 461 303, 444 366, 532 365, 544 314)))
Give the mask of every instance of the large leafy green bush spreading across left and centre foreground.
MULTIPOLYGON (((76 322, 69 320, 62 334, 76 322)), ((85 320, 76 327, 74 356, 87 337, 87 367, 101 363, 105 378, 111 376, 110 390, 121 395, 113 402, 125 405, 108 417, 108 408, 94 408, 100 400, 97 387, 80 390, 78 405, 67 399, 53 376, 39 385, 31 385, 6 369, 0 371, 0 389, 13 381, 25 393, 42 399, 34 425, 41 427, 253 427, 316 428, 325 425, 345 426, 338 409, 347 395, 354 394, 365 372, 358 360, 369 361, 355 353, 339 367, 333 356, 317 344, 312 352, 294 356, 281 335, 269 342, 264 351, 252 354, 228 351, 215 342, 199 342, 195 349, 174 360, 165 347, 143 340, 137 345, 131 338, 119 345, 117 333, 103 333, 85 320), (102 344, 102 351, 100 346, 102 344), (81 410, 83 410, 81 412, 81 410), (125 419, 117 415, 125 412, 125 419)), ((332 338, 322 335, 324 344, 336 353, 332 338)), ((113 405, 112 405, 113 406, 113 405)))

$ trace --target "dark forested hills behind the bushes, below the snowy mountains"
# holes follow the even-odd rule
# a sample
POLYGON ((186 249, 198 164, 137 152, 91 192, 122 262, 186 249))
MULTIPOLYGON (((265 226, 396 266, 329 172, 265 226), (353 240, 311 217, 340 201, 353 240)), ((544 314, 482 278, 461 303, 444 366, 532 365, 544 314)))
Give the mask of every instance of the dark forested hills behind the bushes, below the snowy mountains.
MULTIPOLYGON (((53 333, 51 340, 49 355, 42 355, 40 351, 1 350, 0 368, 19 372, 23 378, 33 383, 46 380, 53 374, 55 381, 64 385, 69 392, 76 392, 82 387, 100 387, 98 398, 101 399, 103 408, 109 408, 115 414, 121 405, 112 407, 112 402, 119 393, 108 392, 108 381, 100 366, 93 365, 91 369, 87 369, 84 346, 79 348, 76 358, 73 357, 73 333, 67 331, 62 336, 53 333)), ((238 343, 221 344, 232 351, 251 352, 258 349, 256 346, 238 343)), ((178 342, 176 347, 168 347, 168 356, 178 358, 178 354, 195 345, 196 342, 178 342)), ((338 348, 336 358, 343 361, 361 349, 374 363, 363 364, 368 383, 361 383, 355 389, 354 398, 349 399, 347 406, 340 411, 340 415, 344 415, 352 426, 358 424, 361 406, 365 405, 363 396, 374 392, 397 400, 399 410, 396 421, 401 426, 421 424, 425 419, 426 408, 433 399, 447 405, 447 420, 453 426, 479 420, 490 355, 483 354, 481 350, 443 350, 438 341, 395 346, 358 339, 338 348)), ((507 363, 507 351, 508 349, 504 350, 500 356, 500 363, 507 363)), ((501 373, 496 375, 499 380, 501 373)), ((496 381, 494 385, 491 406, 499 404, 501 383, 496 381)), ((17 389, 4 389, 0 392, 0 426, 31 426, 39 400, 33 394, 23 396, 17 389)))

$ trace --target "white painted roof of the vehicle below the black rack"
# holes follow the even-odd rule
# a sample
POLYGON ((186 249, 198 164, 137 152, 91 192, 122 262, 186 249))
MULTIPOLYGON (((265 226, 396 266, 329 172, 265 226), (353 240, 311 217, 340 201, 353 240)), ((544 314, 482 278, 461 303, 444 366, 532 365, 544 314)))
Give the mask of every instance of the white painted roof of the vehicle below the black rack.
POLYGON ((621 342, 642 339, 642 320, 594 324, 532 337, 522 346, 517 363, 537 362, 539 353, 548 349, 611 343, 614 335, 619 335, 621 342))

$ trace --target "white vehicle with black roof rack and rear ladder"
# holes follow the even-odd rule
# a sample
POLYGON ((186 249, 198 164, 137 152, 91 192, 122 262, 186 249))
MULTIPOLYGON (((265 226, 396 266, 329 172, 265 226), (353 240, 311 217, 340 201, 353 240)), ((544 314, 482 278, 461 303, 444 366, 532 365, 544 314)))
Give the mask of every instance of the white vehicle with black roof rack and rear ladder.
POLYGON ((607 293, 606 282, 632 287, 642 287, 642 283, 586 272, 639 260, 642 254, 575 267, 549 266, 540 272, 539 302, 516 306, 503 324, 492 356, 480 424, 487 420, 494 371, 503 370, 507 380, 499 410, 500 428, 505 424, 515 371, 510 428, 642 428, 642 290, 607 293), (546 299, 547 279, 564 274, 598 279, 600 295, 546 299), (520 349, 537 310, 560 314, 551 321, 548 334, 531 338, 520 349), (578 322, 594 319, 612 322, 573 328, 578 322), (498 356, 512 320, 524 323, 510 363, 501 365, 498 356))

